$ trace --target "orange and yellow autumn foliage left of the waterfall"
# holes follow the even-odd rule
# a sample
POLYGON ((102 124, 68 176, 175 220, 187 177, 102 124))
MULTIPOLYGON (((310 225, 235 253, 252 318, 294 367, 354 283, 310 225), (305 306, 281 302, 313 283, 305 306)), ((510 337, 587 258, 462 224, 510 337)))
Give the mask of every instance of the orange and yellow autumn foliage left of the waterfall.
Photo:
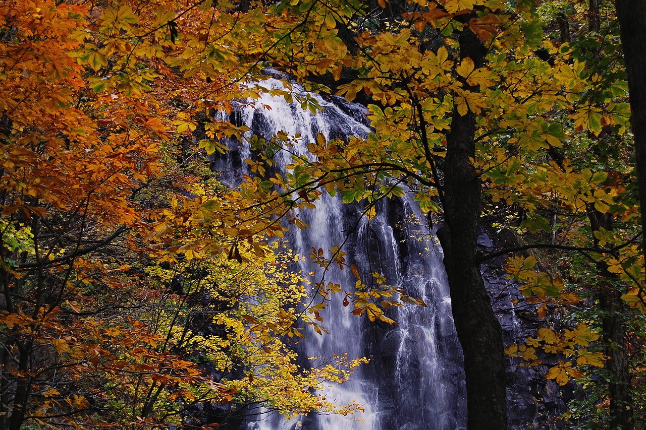
POLYGON ((172 2, 0 11, 0 427, 167 427, 203 402, 359 409, 314 394, 357 362, 300 369, 280 340, 302 336, 308 294, 263 244, 283 227, 268 214, 241 224, 247 202, 218 197, 180 145, 196 128, 183 110, 249 94, 231 83, 249 69, 211 41, 251 44, 236 32, 262 15, 172 2))

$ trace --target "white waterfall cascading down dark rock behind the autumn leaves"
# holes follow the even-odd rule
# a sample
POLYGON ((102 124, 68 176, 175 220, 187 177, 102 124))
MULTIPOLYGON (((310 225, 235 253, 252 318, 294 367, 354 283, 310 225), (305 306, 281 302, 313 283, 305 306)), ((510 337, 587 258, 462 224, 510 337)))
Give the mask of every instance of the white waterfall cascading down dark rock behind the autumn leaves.
MULTIPOLYGON (((282 81, 275 77, 262 81, 262 86, 284 89, 282 81)), ((293 85, 293 91, 306 96, 298 85, 293 85)), ((309 97, 322 107, 317 114, 297 103, 287 103, 284 97, 265 94, 242 105, 233 120, 266 139, 279 130, 290 136, 300 134, 291 150, 310 159, 307 144, 315 141, 318 133, 335 139, 366 136, 370 132, 364 107, 346 103, 340 97, 316 94, 309 97)), ((244 173, 244 158, 249 156, 249 145, 242 143, 214 159, 214 170, 222 172, 224 181, 236 185, 244 173)), ((284 169, 291 158, 289 154, 277 154, 276 163, 284 169)), ((360 366, 349 382, 328 387, 325 392, 329 400, 339 404, 356 400, 366 408, 365 413, 354 417, 312 414, 298 418, 300 422, 261 414, 251 418, 244 429, 291 430, 297 425, 306 430, 466 428, 461 349, 453 327, 442 251, 426 225, 426 216, 408 194, 380 201, 371 220, 360 216, 361 212, 361 207, 342 205, 340 198, 324 193, 316 202, 316 209, 300 212, 299 217, 310 227, 291 230, 289 241, 293 250, 307 256, 311 247, 329 250, 345 241, 349 263, 354 263, 360 272, 380 272, 390 285, 401 285, 427 307, 406 305, 391 309, 388 316, 399 324, 386 327, 351 314, 351 306, 343 307, 340 298, 333 298, 323 314, 330 333, 323 336, 313 331, 307 333, 306 340, 300 343, 300 353, 369 357, 370 363, 360 366)), ((302 261, 300 269, 308 273, 316 267, 302 261)), ((353 286, 356 280, 351 271, 338 267, 326 272, 325 278, 326 283, 338 283, 344 288, 353 286)))

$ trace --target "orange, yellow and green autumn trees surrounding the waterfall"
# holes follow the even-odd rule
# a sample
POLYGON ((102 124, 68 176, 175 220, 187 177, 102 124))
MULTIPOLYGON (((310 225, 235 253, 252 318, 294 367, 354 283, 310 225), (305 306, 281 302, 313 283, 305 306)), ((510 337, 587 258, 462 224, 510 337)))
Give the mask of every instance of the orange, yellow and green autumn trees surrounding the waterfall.
MULTIPOLYGON (((556 354, 545 376, 587 390, 565 425, 643 427, 643 6, 270 3, 0 2, 0 427, 217 427, 194 420, 206 404, 360 413, 317 389, 366 360, 305 369, 293 343, 334 330, 333 294, 387 323, 423 303, 378 274, 309 282, 292 261, 354 272, 348 250, 295 256, 280 238, 322 192, 370 218, 404 185, 442 220, 468 428, 507 427, 505 351, 556 354), (227 189, 204 154, 250 130, 215 113, 257 99, 267 67, 361 101, 373 132, 319 136, 284 176, 262 154, 297 137, 251 138, 252 173, 227 189), (479 254, 481 225, 516 245, 479 254), (504 254, 545 322, 506 348, 480 274, 504 254)), ((320 108, 287 79, 271 93, 320 108)))

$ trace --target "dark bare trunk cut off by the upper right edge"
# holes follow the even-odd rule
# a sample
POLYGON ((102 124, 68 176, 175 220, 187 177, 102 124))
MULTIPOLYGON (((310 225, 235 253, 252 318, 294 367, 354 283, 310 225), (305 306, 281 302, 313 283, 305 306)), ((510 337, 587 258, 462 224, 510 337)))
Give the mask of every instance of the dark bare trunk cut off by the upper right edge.
MULTIPOLYGON (((646 238, 646 1, 616 0, 628 75, 632 134, 640 189, 641 239, 646 238)), ((644 252, 646 256, 646 252, 644 252)), ((646 261, 644 261, 646 267, 646 261)), ((640 280, 643 282, 643 280, 640 280)))

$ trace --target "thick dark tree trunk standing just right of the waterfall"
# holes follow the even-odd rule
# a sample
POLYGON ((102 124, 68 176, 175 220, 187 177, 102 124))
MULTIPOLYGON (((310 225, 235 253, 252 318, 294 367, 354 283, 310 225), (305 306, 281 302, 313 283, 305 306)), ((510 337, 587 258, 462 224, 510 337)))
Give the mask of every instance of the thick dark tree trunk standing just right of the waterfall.
MULTIPOLYGON (((470 16, 467 16, 468 19, 470 16)), ((461 58, 483 64, 486 49, 464 30, 461 58)), ((471 91, 477 88, 464 87, 471 91)), ((438 232, 450 285, 453 320, 464 353, 469 430, 505 430, 507 425, 503 331, 492 311, 477 259, 482 184, 470 161, 475 156, 475 114, 453 109, 444 161, 444 216, 438 232)))

